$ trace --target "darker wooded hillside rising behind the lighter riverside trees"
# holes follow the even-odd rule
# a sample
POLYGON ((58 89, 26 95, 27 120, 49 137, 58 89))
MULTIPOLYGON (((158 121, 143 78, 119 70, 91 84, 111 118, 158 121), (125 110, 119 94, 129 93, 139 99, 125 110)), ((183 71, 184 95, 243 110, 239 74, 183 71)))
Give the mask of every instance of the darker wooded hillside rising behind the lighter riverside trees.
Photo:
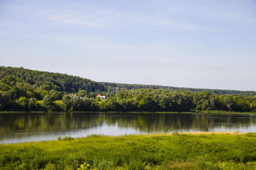
MULTIPOLYGON (((128 90, 137 88, 154 88, 163 90, 184 90, 192 92, 209 91, 214 94, 237 94, 237 95, 256 95, 255 91, 237 91, 237 90, 219 90, 219 89, 206 89, 206 88, 186 88, 186 87, 171 87, 171 86, 155 86, 145 84, 125 84, 125 83, 109 83, 109 82, 94 82, 79 76, 50 73, 47 71, 36 71, 24 69, 23 67, 0 67, 0 79, 8 79, 7 77, 15 78, 15 82, 23 82, 31 84, 34 87, 42 85, 49 86, 49 89, 64 92, 78 92, 79 90, 87 90, 88 92, 95 91, 112 91, 115 87, 127 88, 128 90), (51 87, 52 86, 52 87, 51 87)), ((0 89, 3 87, 0 86, 0 89)))

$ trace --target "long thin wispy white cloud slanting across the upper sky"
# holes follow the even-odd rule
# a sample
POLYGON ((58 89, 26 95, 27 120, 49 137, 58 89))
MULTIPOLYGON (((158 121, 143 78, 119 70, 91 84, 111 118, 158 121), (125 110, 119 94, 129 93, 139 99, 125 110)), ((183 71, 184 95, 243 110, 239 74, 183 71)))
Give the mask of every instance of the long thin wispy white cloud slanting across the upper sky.
MULTIPOLYGON (((27 15, 27 18, 56 22, 60 24, 75 24, 84 27, 122 29, 130 26, 161 27, 164 29, 181 29, 189 31, 209 31, 202 25, 180 22, 178 19, 162 16, 134 14, 127 11, 115 11, 98 6, 84 6, 82 10, 67 8, 38 8, 34 6, 13 6, 14 11, 27 15), (26 12, 24 12, 26 11, 26 12)), ((76 8, 76 7, 73 7, 76 8)))

